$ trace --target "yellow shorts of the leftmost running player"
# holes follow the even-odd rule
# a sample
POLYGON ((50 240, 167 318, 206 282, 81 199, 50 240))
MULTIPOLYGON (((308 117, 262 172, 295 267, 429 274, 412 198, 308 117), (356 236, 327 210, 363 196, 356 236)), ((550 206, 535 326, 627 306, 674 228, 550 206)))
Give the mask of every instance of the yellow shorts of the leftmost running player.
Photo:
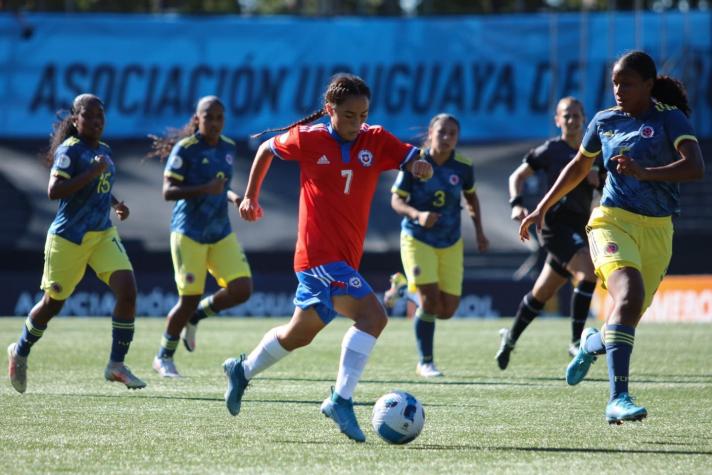
POLYGON ((133 270, 115 227, 89 231, 81 244, 47 234, 42 290, 54 300, 66 300, 82 280, 87 264, 107 285, 115 271, 133 270))

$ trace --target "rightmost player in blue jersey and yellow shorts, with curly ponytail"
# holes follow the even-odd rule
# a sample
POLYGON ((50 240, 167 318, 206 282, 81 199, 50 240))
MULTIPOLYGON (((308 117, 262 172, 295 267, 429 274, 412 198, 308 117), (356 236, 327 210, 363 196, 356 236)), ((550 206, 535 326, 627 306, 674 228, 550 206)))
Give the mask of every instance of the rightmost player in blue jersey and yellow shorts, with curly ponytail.
POLYGON ((601 206, 591 214, 588 237, 596 274, 613 298, 602 332, 584 330, 566 382, 583 380, 595 355, 606 355, 610 424, 645 418, 628 393, 635 328, 653 300, 672 255, 672 219, 679 213, 678 182, 699 180, 704 162, 680 82, 658 76, 655 62, 634 51, 613 66, 616 107, 596 114, 579 153, 519 228, 541 228, 547 210, 583 180, 603 155, 608 176, 601 206))

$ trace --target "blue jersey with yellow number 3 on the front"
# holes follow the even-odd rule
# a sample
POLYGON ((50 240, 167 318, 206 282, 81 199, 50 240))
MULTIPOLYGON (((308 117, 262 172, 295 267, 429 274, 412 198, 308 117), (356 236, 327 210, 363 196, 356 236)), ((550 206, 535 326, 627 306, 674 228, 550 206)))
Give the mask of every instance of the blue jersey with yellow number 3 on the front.
POLYGON ((432 178, 423 181, 401 171, 391 191, 415 209, 439 213, 440 218, 432 228, 424 228, 418 220, 404 217, 401 229, 430 246, 452 246, 460 239, 462 193, 475 191, 472 161, 454 151, 442 165, 435 163, 428 151, 423 156, 433 166, 432 178))

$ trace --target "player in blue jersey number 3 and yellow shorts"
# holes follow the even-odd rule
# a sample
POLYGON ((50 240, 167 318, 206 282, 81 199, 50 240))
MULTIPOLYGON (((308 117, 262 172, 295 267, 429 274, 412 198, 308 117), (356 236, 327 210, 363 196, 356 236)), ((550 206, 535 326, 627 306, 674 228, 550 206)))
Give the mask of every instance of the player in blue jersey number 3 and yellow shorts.
POLYGON ((391 189, 391 206, 403 216, 403 269, 410 290, 417 290, 420 302, 414 317, 419 353, 416 373, 426 378, 442 376, 433 361, 435 321, 452 317, 460 304, 463 196, 475 224, 480 252, 489 246, 482 229, 472 161, 455 151, 459 135, 460 123, 455 117, 433 117, 421 153, 433 167, 432 178, 423 181, 401 171, 391 189))

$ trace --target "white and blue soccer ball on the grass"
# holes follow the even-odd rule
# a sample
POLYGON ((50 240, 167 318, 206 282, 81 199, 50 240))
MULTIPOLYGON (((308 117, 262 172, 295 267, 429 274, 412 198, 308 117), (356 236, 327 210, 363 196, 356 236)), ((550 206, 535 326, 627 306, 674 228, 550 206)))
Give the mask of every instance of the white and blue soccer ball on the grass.
POLYGON ((411 394, 392 391, 373 406, 373 430, 389 444, 407 444, 423 430, 425 411, 411 394))

